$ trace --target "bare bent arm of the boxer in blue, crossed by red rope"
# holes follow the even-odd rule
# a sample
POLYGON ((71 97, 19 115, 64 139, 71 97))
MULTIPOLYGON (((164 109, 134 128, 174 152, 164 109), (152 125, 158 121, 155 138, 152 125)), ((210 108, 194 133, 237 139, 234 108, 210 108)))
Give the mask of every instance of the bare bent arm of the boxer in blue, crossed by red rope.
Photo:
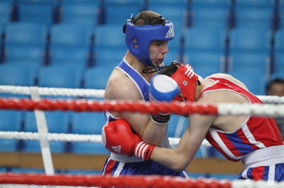
MULTIPOLYGON (((105 99, 142 101, 141 93, 136 89, 135 83, 121 71, 114 71, 107 84, 105 99)), ((117 112, 111 113, 117 114, 117 112)), ((124 117, 143 141, 155 146, 160 146, 167 131, 167 126, 160 126, 151 121, 150 114, 119 112, 116 117, 124 117)))

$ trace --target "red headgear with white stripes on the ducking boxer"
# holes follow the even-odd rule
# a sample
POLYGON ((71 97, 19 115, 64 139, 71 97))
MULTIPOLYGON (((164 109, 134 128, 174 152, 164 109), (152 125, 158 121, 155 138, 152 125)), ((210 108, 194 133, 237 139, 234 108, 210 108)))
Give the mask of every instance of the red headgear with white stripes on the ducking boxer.
POLYGON ((196 83, 198 80, 197 74, 192 69, 192 66, 190 64, 181 64, 178 70, 170 76, 173 78, 177 83, 178 86, 180 86, 180 93, 179 95, 175 96, 174 100, 178 101, 190 101, 195 102, 195 88, 196 83))

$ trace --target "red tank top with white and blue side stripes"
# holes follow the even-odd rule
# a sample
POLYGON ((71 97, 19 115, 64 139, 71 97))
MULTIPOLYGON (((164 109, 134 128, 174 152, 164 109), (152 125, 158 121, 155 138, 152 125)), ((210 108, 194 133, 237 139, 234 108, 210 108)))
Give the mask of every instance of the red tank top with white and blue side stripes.
MULTIPOLYGON (((214 90, 229 90, 244 95, 251 104, 262 104, 261 100, 256 98, 255 95, 226 78, 209 77, 208 79, 214 81, 214 83, 212 83, 212 86, 204 88, 199 98, 204 93, 214 90)), ((238 161, 247 153, 261 148, 283 145, 280 131, 272 117, 248 116, 238 129, 230 133, 210 128, 206 139, 217 151, 232 161, 238 161)))

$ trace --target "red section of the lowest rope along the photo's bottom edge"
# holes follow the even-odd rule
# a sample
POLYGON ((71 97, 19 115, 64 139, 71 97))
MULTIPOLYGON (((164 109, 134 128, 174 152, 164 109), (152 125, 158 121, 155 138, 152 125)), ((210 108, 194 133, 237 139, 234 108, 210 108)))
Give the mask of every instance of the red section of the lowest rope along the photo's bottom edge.
POLYGON ((230 181, 197 179, 187 180, 182 177, 171 176, 91 176, 91 175, 35 175, 35 174, 0 174, 0 184, 37 184, 37 185, 65 185, 65 186, 103 186, 103 187, 210 187, 230 188, 230 181))

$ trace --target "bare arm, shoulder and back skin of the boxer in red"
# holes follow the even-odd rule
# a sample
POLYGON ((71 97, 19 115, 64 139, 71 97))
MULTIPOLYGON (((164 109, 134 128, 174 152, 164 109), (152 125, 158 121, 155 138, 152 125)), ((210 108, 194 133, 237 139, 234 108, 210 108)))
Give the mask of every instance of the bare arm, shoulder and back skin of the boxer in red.
MULTIPOLYGON (((238 85, 246 88, 244 83, 236 80, 227 74, 213 74, 212 76, 224 77, 237 83, 238 85)), ((201 81, 201 86, 197 85, 195 92, 195 101, 197 104, 212 104, 218 105, 219 103, 249 103, 243 95, 227 91, 218 90, 216 92, 204 93, 202 98, 197 100, 202 92, 202 89, 210 86, 213 82, 207 78, 201 81)), ((247 90, 247 88, 246 88, 247 90)), ((202 115, 191 114, 189 118, 189 126, 180 139, 178 147, 175 149, 166 149, 155 147, 151 155, 151 160, 160 163, 168 168, 176 171, 182 171, 187 168, 198 148, 200 148, 202 141, 207 134, 209 127, 214 124, 214 128, 222 129, 223 131, 233 132, 246 120, 246 116, 217 116, 217 115, 202 115)))

